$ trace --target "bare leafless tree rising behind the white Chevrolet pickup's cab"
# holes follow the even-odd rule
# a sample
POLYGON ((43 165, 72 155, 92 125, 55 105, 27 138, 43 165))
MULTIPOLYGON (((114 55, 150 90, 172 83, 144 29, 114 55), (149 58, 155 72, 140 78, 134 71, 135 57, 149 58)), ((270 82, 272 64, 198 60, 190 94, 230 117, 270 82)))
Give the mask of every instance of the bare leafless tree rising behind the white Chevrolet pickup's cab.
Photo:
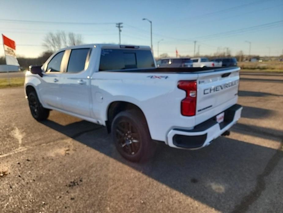
POLYGON ((58 31, 57 33, 47 33, 43 40, 43 46, 48 51, 56 52, 58 49, 82 44, 82 36, 80 34, 69 33, 69 37, 66 36, 64 31, 58 31))

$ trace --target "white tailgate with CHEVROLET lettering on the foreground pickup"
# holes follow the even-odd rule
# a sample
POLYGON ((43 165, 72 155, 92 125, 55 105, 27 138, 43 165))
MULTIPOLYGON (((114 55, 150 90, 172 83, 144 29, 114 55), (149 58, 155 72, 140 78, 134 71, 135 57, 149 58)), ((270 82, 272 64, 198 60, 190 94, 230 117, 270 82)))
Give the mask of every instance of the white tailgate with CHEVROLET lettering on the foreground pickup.
POLYGON ((229 100, 238 94, 239 70, 240 68, 230 68, 199 73, 196 115, 221 105, 222 109, 230 107, 229 100))

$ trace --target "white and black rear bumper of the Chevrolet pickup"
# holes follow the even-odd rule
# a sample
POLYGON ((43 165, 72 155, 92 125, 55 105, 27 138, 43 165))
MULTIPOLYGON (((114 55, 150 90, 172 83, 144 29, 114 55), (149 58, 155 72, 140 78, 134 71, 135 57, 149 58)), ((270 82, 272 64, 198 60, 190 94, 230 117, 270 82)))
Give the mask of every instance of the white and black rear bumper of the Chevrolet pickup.
POLYGON ((235 104, 225 110, 224 122, 218 123, 215 116, 191 130, 174 128, 167 134, 167 145, 178 149, 201 149, 229 130, 241 117, 243 107, 235 104))

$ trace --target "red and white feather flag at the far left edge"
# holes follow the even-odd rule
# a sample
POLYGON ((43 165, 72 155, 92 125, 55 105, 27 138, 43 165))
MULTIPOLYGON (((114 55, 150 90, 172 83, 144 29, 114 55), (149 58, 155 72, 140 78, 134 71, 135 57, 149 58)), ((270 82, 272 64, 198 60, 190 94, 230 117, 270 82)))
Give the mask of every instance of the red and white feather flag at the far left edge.
POLYGON ((3 38, 3 46, 4 46, 4 52, 6 56, 6 64, 8 65, 16 65, 20 66, 18 63, 18 60, 16 58, 16 43, 12 39, 9 39, 8 37, 4 36, 2 34, 3 38))

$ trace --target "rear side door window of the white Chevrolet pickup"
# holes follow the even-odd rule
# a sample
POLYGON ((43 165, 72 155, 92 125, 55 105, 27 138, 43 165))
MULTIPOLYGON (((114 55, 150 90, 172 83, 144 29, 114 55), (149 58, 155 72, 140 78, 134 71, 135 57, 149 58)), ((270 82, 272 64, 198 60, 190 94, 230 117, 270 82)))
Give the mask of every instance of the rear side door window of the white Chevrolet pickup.
POLYGON ((89 51, 89 48, 72 49, 67 72, 80 72, 84 70, 89 51))

